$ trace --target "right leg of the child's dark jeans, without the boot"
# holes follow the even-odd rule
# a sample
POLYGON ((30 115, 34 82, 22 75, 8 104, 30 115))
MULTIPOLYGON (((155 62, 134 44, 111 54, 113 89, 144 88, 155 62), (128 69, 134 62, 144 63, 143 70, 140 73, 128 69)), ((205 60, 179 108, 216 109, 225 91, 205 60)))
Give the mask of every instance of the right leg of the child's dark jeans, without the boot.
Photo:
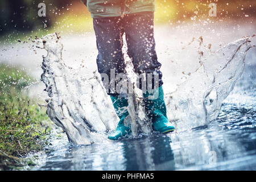
MULTIPOLYGON (((158 79, 155 80, 155 88, 158 88, 163 81, 162 72, 159 71, 161 64, 158 62, 155 52, 154 13, 130 14, 126 15, 124 20, 127 53, 133 60, 135 72, 158 75, 158 79)), ((154 88, 154 76, 152 88, 154 88)))

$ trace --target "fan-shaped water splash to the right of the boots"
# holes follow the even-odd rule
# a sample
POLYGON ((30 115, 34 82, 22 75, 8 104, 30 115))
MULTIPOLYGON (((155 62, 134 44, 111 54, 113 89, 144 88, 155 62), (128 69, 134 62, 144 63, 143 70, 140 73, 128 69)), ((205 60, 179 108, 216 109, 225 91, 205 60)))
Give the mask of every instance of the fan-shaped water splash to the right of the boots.
POLYGON ((179 131, 208 125, 217 118, 222 102, 243 73, 251 47, 247 36, 212 52, 199 38, 180 52, 185 55, 187 49, 194 49, 200 67, 189 73, 175 92, 166 94, 168 118, 179 131))

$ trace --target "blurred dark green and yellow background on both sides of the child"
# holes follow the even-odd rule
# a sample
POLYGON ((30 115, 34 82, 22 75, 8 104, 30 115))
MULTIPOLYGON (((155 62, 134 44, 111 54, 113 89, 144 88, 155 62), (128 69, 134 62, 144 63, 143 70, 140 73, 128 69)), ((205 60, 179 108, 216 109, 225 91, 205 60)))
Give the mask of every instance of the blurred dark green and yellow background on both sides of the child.
MULTIPOLYGON (((202 19, 245 19, 255 16, 255 0, 156 0, 155 24, 202 19), (210 17, 209 3, 217 5, 217 17, 210 17)), ((93 31, 92 19, 80 0, 1 0, 0 36, 45 35, 48 31, 80 33, 93 31), (46 4, 46 17, 38 16, 38 4, 46 4)))

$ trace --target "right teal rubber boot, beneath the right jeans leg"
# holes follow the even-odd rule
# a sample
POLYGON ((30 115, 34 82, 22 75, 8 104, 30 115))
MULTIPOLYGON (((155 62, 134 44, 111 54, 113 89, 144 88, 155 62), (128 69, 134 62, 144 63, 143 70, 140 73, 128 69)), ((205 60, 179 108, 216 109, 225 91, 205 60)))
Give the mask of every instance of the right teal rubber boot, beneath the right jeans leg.
POLYGON ((166 114, 166 104, 164 103, 163 88, 154 89, 153 93, 143 94, 146 104, 146 111, 149 118, 152 118, 152 129, 160 133, 169 133, 175 130, 166 114))

